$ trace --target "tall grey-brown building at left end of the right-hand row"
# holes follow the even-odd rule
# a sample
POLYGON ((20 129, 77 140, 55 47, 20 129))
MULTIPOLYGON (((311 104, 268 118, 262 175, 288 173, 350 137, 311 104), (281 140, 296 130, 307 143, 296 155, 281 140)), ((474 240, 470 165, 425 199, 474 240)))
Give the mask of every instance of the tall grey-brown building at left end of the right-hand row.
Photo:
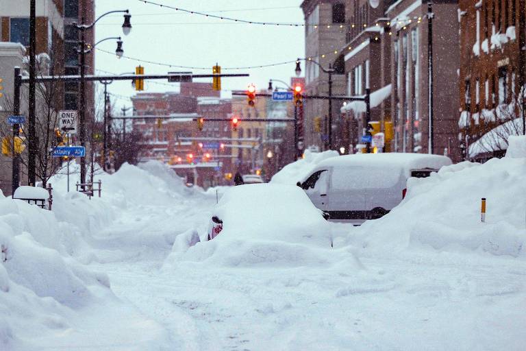
MULTIPOLYGON (((305 95, 329 94, 329 75, 323 71, 329 67, 335 69, 332 74, 332 94, 341 96, 346 93, 344 59, 340 52, 345 45, 347 32, 345 8, 345 1, 338 0, 305 0, 301 3, 305 17, 305 95)), ((332 128, 335 144, 340 135, 337 123, 341 104, 338 105, 335 101, 333 103, 332 128)), ((304 101, 303 107, 305 147, 326 149, 329 147, 328 100, 308 99, 304 101)))

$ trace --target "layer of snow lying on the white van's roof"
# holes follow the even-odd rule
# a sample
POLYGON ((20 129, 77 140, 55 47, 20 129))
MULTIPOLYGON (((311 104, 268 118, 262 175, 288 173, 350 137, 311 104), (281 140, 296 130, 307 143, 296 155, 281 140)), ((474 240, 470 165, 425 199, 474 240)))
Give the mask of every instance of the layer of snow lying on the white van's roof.
POLYGON ((367 165, 403 169, 440 169, 442 166, 451 165, 447 156, 429 154, 409 154, 386 152, 383 154, 353 154, 327 158, 318 164, 318 167, 334 167, 336 165, 367 165))

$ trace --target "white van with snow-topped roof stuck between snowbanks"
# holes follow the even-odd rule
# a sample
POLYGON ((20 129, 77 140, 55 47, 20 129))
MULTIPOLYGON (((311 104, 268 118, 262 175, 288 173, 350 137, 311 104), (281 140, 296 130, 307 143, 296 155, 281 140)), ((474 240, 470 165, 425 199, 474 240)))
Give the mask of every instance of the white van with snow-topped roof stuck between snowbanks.
POLYGON ((327 158, 297 185, 331 220, 360 224, 377 219, 405 196, 408 178, 428 177, 451 165, 429 154, 354 154, 327 158))

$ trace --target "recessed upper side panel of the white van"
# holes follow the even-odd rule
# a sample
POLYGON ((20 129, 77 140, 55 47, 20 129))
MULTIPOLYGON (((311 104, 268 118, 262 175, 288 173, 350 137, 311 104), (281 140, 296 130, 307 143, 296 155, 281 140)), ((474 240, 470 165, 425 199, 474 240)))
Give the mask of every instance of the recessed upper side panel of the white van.
POLYGON ((335 167, 331 176, 331 188, 390 188, 399 181, 401 171, 393 167, 335 167))

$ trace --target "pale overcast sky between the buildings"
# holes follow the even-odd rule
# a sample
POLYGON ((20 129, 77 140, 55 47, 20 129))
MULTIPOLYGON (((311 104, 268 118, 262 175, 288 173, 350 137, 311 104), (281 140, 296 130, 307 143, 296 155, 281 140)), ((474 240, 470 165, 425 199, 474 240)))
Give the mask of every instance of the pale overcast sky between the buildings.
MULTIPOLYGON (((249 21, 273 21, 303 23, 303 13, 299 8, 301 0, 151 0, 155 3, 171 5, 188 10, 208 12, 249 21)), ((269 25, 250 25, 210 19, 197 14, 161 8, 145 4, 139 0, 97 0, 97 16, 111 10, 129 9, 132 14, 132 33, 123 38, 125 56, 166 64, 181 66, 209 67, 206 71, 192 70, 194 73, 212 73, 216 62, 222 67, 254 66, 285 62, 303 57, 305 40, 303 27, 282 27, 269 25)), ((123 36, 121 25, 123 16, 108 15, 96 25, 97 40, 109 36, 123 36)), ((110 40, 97 46, 110 51, 95 50, 97 73, 132 72, 135 66, 145 66, 145 73, 162 74, 168 71, 189 71, 170 68, 136 60, 122 58, 114 54, 116 44, 110 40)), ((303 68, 303 67, 302 67, 303 68)), ((249 73, 250 77, 223 78, 225 90, 245 89, 253 83, 260 88, 268 86, 268 80, 290 81, 294 75, 295 64, 284 64, 262 69, 223 70, 222 73, 249 73)), ((211 80, 195 80, 211 82, 211 80)), ((113 82, 108 90, 116 95, 129 97, 135 94, 129 82, 113 82)), ((166 81, 147 81, 145 91, 162 92, 177 90, 176 84, 166 81), (162 84, 154 83, 162 82, 162 84)), ((228 95, 223 92, 223 95, 228 95)), ((128 99, 118 98, 117 106, 129 106, 128 99)))

